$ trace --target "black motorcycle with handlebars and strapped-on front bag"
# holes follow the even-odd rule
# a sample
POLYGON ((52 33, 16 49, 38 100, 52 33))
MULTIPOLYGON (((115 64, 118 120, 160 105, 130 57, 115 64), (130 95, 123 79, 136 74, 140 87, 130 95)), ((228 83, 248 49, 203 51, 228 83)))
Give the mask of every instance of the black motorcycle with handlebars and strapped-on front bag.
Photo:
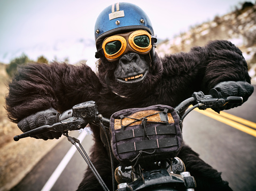
POLYGON ((218 92, 211 89, 209 95, 204 95, 203 92, 193 93, 190 98, 185 99, 174 109, 156 105, 146 109, 135 109, 135 111, 123 110, 113 114, 111 119, 107 119, 98 112, 97 104, 89 101, 77 104, 72 109, 61 113, 58 122, 14 136, 14 140, 18 141, 20 138, 48 131, 62 132, 80 152, 103 190, 109 190, 79 140, 68 136, 68 131, 79 130, 85 128, 88 123, 92 123, 102 128, 106 135, 110 151, 113 190, 117 181, 116 191, 192 191, 196 188, 196 180, 188 171, 185 171, 183 161, 177 157, 182 147, 183 119, 197 107, 200 110, 206 110, 219 108, 227 103, 242 102, 242 97, 220 98, 218 92), (193 106, 189 107, 190 105, 193 106), (152 113, 152 111, 157 112, 152 113), (145 112, 146 114, 142 115, 145 112), (156 121, 156 118, 160 120, 156 121), (120 162, 118 167, 114 167, 114 160, 120 162))

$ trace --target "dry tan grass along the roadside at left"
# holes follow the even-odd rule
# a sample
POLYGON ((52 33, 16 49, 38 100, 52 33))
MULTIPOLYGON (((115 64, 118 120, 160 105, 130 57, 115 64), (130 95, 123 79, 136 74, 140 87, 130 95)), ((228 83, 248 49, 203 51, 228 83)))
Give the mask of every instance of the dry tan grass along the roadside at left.
POLYGON ((10 80, 0 63, 0 191, 9 190, 53 148, 59 140, 25 138, 14 142, 13 137, 21 134, 17 124, 9 121, 4 109, 6 87, 10 80))

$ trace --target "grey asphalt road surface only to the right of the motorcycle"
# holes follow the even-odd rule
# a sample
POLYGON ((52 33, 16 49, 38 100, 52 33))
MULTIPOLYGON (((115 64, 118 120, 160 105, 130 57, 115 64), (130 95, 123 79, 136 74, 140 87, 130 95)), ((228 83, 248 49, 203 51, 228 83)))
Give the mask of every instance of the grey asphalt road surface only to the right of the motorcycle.
MULTIPOLYGON (((224 112, 256 123, 256 86, 247 102, 224 112)), ((229 182, 234 191, 253 191, 256 190, 256 129, 254 130, 252 136, 192 111, 183 122, 183 139, 200 154, 201 159, 222 172, 222 178, 229 182)))

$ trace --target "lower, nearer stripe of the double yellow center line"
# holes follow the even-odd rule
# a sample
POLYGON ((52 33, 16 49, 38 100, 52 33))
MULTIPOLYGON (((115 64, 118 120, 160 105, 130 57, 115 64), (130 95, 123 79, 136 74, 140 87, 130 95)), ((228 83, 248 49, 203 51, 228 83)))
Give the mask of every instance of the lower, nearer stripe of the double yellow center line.
POLYGON ((197 111, 197 112, 199 112, 201 114, 204 114, 207 117, 213 118, 213 119, 215 119, 217 121, 220 121, 220 122, 222 122, 224 124, 227 124, 228 126, 231 126, 231 127, 234 127, 234 128, 236 128, 238 130, 246 132, 249 135, 252 135, 252 136, 256 137, 256 130, 251 129, 249 127, 246 127, 243 124, 237 123, 237 122, 232 121, 230 119, 224 118, 224 117, 222 117, 218 113, 213 113, 213 112, 208 111, 208 110, 199 110, 198 108, 196 108, 195 111, 197 111))

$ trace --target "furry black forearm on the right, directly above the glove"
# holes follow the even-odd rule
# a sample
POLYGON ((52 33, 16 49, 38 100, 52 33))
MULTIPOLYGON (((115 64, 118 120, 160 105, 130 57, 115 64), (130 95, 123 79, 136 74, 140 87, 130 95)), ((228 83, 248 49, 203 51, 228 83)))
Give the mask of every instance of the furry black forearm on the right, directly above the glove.
POLYGON ((242 52, 226 40, 216 40, 206 47, 208 65, 205 70, 203 86, 207 89, 222 81, 247 81, 251 84, 247 63, 242 52))

